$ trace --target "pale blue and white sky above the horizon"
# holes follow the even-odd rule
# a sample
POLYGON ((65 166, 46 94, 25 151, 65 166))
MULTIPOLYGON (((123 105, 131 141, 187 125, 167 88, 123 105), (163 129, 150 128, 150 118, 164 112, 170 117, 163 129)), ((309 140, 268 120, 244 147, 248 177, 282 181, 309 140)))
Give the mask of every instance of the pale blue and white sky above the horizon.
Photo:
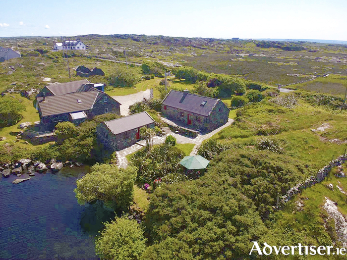
POLYGON ((0 37, 85 34, 347 41, 347 0, 2 0, 0 37))

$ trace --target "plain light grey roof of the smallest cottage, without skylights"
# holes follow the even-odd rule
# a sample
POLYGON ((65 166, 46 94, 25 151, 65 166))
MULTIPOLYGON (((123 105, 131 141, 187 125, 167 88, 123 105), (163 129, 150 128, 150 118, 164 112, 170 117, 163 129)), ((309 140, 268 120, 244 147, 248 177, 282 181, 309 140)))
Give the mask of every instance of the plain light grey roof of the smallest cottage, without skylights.
POLYGON ((133 115, 124 116, 111 121, 104 122, 106 126, 115 135, 136 129, 151 123, 154 123, 153 118, 146 112, 141 112, 133 115))

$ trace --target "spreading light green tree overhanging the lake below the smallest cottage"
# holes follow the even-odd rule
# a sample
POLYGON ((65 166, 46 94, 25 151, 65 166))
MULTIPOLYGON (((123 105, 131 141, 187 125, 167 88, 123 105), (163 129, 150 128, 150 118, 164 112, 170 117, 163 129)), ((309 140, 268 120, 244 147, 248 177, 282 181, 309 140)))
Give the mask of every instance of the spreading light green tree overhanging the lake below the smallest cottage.
POLYGON ((77 180, 74 189, 79 203, 103 201, 111 208, 126 210, 133 201, 137 169, 118 169, 115 164, 95 164, 90 172, 77 180))

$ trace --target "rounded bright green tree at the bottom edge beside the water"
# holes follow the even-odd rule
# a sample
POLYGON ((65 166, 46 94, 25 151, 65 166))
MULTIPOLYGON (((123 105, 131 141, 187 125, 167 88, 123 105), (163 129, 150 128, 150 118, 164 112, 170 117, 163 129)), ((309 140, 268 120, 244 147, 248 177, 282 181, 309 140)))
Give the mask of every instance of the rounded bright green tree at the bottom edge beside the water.
POLYGON ((137 260, 146 248, 146 240, 136 220, 116 217, 105 224, 95 241, 95 252, 102 260, 137 260))

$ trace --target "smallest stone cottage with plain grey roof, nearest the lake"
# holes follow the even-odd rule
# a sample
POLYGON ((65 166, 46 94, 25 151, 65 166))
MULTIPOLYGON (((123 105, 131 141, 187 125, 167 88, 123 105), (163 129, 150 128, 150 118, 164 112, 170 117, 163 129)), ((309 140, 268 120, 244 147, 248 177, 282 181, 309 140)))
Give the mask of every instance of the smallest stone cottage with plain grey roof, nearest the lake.
POLYGON ((154 128, 154 120, 146 111, 101 123, 96 128, 97 138, 108 150, 119 151, 140 139, 143 126, 154 128))

